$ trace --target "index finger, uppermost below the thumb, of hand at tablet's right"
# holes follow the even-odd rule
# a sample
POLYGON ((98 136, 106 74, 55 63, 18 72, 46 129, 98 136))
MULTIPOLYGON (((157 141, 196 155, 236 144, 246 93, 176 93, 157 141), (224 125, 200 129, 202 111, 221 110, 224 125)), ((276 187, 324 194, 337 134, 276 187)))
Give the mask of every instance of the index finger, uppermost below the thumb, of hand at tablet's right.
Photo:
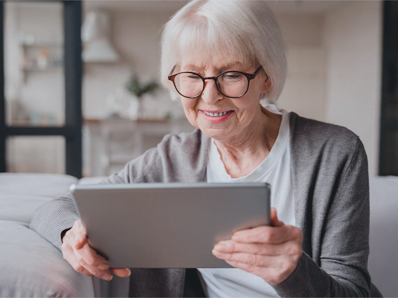
POLYGON ((300 237, 301 231, 293 225, 283 226, 257 226, 251 229, 240 230, 232 235, 236 242, 261 242, 261 243, 283 243, 300 237))

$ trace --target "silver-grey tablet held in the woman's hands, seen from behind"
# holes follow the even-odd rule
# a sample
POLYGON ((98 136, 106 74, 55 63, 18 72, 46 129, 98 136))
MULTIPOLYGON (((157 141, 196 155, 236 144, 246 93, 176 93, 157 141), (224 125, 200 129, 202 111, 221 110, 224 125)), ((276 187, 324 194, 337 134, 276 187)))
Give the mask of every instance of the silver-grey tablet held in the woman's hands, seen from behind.
POLYGON ((111 268, 227 268, 211 253, 271 223, 267 183, 73 185, 89 244, 111 268))

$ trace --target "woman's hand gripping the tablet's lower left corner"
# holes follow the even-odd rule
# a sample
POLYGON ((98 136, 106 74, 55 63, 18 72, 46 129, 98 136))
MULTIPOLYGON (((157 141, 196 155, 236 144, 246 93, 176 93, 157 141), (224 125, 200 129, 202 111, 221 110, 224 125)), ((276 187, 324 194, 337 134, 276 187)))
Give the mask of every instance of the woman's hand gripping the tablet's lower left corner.
POLYGON ((64 259, 77 272, 87 276, 97 276, 110 281, 112 273, 119 277, 128 277, 128 268, 109 268, 108 262, 89 245, 85 228, 80 220, 73 224, 62 238, 62 254, 64 259))

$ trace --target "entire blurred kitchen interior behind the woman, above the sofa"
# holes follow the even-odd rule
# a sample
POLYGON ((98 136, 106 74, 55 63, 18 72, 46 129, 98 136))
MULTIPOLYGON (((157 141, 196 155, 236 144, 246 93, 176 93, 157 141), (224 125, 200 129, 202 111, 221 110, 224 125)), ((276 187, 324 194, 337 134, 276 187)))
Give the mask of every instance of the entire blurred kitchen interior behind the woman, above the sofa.
MULTIPOLYGON (((267 1, 288 46, 277 102, 361 138, 398 175, 394 1, 267 1)), ((162 26, 186 1, 1 1, 0 172, 102 176, 192 131, 159 85, 162 26)))

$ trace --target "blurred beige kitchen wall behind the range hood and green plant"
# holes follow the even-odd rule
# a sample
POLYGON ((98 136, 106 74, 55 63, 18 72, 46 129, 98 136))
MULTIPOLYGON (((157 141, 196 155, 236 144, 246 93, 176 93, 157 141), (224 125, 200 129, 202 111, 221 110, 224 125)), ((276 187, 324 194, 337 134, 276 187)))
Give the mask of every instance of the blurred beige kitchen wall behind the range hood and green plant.
MULTIPOLYGON (((106 98, 128 97, 124 85, 132 72, 143 81, 159 80, 160 34, 173 11, 111 11, 112 44, 120 55, 116 64, 86 63, 83 81, 83 111, 87 118, 103 118, 109 113, 106 98)), ((164 90, 146 100, 151 118, 160 118, 179 106, 164 90)), ((181 114, 181 113, 176 113, 181 114)))

